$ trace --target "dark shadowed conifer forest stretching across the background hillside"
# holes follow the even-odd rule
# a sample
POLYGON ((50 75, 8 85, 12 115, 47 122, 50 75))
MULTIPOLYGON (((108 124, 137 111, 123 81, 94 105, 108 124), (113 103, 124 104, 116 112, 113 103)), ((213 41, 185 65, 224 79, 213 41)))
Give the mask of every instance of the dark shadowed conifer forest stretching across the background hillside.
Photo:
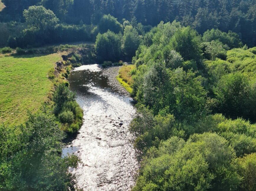
POLYGON ((233 31, 243 43, 255 46, 256 4, 254 0, 3 0, 6 8, 1 21, 24 21, 22 12, 32 5, 43 5, 67 24, 98 24, 104 14, 118 21, 136 18, 143 25, 155 26, 160 21, 180 21, 203 34, 208 29, 233 31))

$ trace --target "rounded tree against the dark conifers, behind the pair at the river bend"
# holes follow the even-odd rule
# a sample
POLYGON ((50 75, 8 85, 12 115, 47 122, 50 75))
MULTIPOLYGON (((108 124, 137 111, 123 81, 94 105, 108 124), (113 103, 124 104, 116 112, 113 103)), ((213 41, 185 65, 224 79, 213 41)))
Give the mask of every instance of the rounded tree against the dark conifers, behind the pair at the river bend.
POLYGON ((114 33, 119 33, 123 31, 123 27, 115 17, 108 14, 103 15, 103 17, 100 19, 99 30, 101 33, 105 33, 107 30, 114 33))

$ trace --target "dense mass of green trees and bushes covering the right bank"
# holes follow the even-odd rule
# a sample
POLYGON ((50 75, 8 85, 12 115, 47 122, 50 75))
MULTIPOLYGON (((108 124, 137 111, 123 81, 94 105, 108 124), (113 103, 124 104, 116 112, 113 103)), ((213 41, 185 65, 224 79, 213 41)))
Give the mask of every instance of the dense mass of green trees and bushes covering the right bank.
POLYGON ((134 191, 256 189, 255 53, 234 33, 176 21, 144 36, 120 71, 138 102, 134 191))

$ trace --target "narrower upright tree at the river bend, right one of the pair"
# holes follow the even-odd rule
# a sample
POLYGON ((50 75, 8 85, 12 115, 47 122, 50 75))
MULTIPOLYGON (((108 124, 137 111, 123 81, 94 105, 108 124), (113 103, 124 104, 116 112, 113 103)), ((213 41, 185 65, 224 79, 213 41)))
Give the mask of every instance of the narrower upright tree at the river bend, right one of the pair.
POLYGON ((138 49, 142 41, 136 29, 132 26, 126 26, 123 35, 123 51, 128 58, 135 56, 135 52, 138 49))

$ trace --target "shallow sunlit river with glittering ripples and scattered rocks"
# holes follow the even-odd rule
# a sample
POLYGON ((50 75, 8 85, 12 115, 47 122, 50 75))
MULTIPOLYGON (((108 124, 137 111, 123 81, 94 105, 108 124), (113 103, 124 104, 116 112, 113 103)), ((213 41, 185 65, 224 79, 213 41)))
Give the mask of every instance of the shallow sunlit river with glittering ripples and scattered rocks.
POLYGON ((81 66, 68 79, 84 110, 84 123, 65 152, 81 159, 72 173, 82 190, 130 190, 138 169, 128 130, 135 108, 131 98, 113 86, 115 78, 107 75, 111 70, 81 66))

